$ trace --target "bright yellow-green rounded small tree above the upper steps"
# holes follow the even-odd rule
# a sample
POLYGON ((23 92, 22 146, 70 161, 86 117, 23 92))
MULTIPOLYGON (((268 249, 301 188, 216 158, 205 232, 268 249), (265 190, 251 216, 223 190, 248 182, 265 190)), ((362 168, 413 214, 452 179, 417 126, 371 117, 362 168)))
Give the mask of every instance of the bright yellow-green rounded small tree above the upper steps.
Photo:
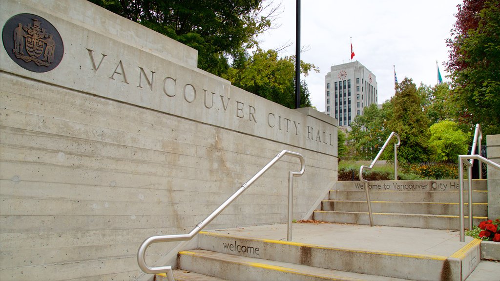
POLYGON ((470 133, 462 132, 456 122, 442 120, 432 124, 429 131, 432 160, 457 162, 457 155, 467 152, 470 133))

